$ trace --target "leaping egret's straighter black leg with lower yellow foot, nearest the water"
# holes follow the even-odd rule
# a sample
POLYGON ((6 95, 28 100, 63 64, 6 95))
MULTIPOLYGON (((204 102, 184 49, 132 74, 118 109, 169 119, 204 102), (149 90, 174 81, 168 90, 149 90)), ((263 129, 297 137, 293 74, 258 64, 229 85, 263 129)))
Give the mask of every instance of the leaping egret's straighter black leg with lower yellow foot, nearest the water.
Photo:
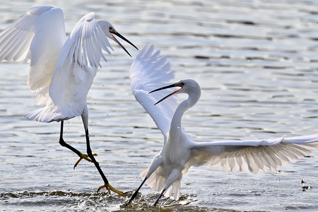
POLYGON ((85 112, 83 113, 82 115, 82 119, 83 119, 83 123, 84 123, 84 128, 85 128, 85 135, 86 135, 86 146, 87 146, 87 155, 88 157, 93 161, 95 167, 97 168, 98 172, 100 173, 100 176, 101 178, 103 179, 104 181, 104 185, 100 186, 98 189, 97 189, 97 193, 100 191, 100 189, 102 188, 106 188, 108 191, 114 191, 115 193, 119 194, 120 196, 123 196, 124 195, 124 192, 120 191, 120 190, 117 190, 115 188, 113 188, 105 174, 103 173, 103 171, 101 170, 100 166, 99 166, 99 163, 95 160, 94 158, 94 155, 92 154, 92 149, 91 149, 91 145, 89 143, 89 134, 88 134, 88 119, 86 119, 86 117, 88 117, 88 114, 85 114, 85 112))

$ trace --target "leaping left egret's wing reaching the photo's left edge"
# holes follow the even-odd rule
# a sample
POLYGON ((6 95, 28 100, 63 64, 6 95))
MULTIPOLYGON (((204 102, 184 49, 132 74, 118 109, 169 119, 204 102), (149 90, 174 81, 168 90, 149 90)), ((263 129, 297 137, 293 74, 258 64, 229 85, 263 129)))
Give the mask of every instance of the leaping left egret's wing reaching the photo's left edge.
POLYGON ((30 91, 38 105, 46 102, 56 61, 66 40, 63 11, 53 6, 33 7, 0 34, 0 61, 31 62, 30 91))

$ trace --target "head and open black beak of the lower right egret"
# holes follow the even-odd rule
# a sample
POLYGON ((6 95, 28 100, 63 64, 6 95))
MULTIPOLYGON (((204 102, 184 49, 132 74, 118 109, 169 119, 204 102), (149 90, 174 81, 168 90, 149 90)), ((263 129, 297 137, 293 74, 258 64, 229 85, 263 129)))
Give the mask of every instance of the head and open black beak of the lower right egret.
MULTIPOLYGON (((197 97, 197 100, 200 98, 201 96, 201 88, 200 85, 193 79, 180 79, 179 81, 176 81, 175 83, 168 85, 168 86, 164 86, 162 88, 158 88, 156 90, 153 90, 149 93, 155 92, 155 91, 160 91, 163 89, 167 89, 167 88, 172 88, 172 87, 181 87, 178 90, 170 93, 168 96, 162 98, 161 100, 159 100, 156 104, 158 104, 159 102, 163 101, 164 99, 167 99, 169 96, 178 94, 178 93, 187 93, 187 94, 194 94, 194 96, 197 97)), ((155 105, 156 105, 155 104, 155 105)))

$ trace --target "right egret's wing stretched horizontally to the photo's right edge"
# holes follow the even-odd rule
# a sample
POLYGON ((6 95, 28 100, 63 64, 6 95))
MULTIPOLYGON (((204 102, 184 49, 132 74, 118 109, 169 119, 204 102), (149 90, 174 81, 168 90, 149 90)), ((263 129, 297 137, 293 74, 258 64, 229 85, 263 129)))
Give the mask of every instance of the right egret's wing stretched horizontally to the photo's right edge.
MULTIPOLYGON (((230 140, 193 143, 194 156, 186 164, 191 166, 210 165, 212 169, 222 167, 222 171, 248 170, 258 174, 260 170, 275 170, 288 162, 308 156, 318 148, 318 134, 291 138, 263 140, 230 140)), ((185 171, 185 172, 186 172, 185 171)))

